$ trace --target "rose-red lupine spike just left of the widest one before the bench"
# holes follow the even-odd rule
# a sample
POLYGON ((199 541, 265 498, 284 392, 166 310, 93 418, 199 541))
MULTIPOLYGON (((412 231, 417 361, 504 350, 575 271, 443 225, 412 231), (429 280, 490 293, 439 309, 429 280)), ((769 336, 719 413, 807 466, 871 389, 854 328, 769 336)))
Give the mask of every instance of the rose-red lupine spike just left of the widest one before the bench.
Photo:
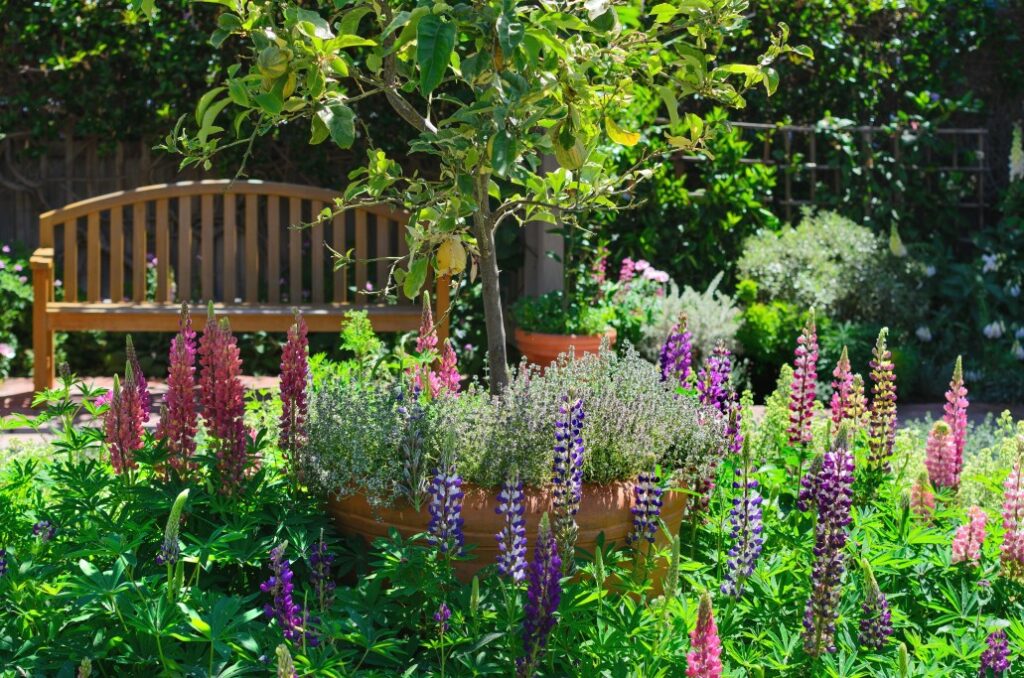
POLYGON ((157 425, 157 437, 167 448, 167 463, 184 477, 195 468, 196 452, 196 332, 191 327, 188 305, 181 304, 178 334, 171 340, 170 367, 167 370, 167 395, 164 413, 157 425))

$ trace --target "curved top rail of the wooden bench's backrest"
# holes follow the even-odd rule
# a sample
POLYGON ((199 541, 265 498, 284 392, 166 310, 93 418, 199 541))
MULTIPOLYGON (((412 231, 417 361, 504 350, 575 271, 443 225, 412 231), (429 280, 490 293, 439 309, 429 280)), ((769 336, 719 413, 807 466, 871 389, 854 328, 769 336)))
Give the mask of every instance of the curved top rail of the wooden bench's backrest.
MULTIPOLYGON (((258 179, 204 179, 202 181, 178 181, 176 183, 158 183, 150 186, 141 186, 130 190, 119 190, 96 196, 59 207, 49 212, 39 215, 39 227, 41 236, 52 232, 54 224, 63 223, 72 219, 87 216, 115 207, 125 205, 135 205, 166 198, 188 198, 205 195, 236 195, 236 196, 279 196, 282 198, 297 198, 299 200, 319 201, 332 203, 341 194, 331 188, 318 188, 298 183, 283 183, 279 181, 260 181, 258 179)), ((357 211, 368 212, 376 216, 404 222, 407 214, 388 207, 368 206, 359 207, 357 211)), ((41 238, 47 240, 46 238, 41 238)), ((49 241, 52 241, 50 235, 49 241)), ((51 247, 52 242, 43 243, 44 247, 51 247)))

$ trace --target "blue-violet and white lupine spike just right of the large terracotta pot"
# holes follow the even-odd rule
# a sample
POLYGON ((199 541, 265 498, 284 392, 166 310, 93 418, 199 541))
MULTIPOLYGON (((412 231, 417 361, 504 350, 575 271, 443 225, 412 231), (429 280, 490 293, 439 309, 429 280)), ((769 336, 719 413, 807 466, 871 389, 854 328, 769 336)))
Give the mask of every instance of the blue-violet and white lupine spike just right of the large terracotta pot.
POLYGON ((742 464, 736 468, 736 477, 732 481, 732 489, 737 491, 729 511, 732 548, 729 549, 728 569, 722 582, 722 593, 734 598, 743 595, 746 580, 757 567, 765 541, 761 535, 764 531, 761 510, 764 500, 758 492, 757 479, 752 477, 750 444, 744 444, 742 452, 742 464))

